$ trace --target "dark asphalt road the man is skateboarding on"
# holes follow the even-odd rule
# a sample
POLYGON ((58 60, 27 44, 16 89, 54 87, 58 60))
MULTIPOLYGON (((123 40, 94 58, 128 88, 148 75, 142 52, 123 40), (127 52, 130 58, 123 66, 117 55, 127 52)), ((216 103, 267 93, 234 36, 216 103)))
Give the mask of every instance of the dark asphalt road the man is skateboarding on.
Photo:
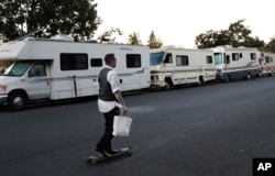
POLYGON ((275 157, 275 78, 125 96, 133 155, 87 164, 103 131, 95 98, 0 109, 1 176, 252 176, 275 157))

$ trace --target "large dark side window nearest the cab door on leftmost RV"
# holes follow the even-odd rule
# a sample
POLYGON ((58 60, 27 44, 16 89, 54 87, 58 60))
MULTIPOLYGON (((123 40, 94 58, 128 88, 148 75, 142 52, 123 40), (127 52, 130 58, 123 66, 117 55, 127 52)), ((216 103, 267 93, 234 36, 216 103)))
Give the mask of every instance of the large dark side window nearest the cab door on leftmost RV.
POLYGON ((61 54, 62 70, 80 70, 88 69, 87 54, 61 54))

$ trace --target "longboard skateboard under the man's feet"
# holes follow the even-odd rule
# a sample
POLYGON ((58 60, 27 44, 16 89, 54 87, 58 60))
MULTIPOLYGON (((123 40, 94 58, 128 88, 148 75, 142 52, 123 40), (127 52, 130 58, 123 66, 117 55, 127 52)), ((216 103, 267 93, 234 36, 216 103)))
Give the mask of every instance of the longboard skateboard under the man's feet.
POLYGON ((122 147, 118 151, 118 153, 116 153, 114 155, 110 157, 102 156, 101 154, 95 154, 89 157, 86 157, 86 160, 88 163, 96 164, 99 162, 110 161, 110 160, 122 157, 122 156, 132 156, 132 152, 130 150, 131 150, 131 146, 122 147))

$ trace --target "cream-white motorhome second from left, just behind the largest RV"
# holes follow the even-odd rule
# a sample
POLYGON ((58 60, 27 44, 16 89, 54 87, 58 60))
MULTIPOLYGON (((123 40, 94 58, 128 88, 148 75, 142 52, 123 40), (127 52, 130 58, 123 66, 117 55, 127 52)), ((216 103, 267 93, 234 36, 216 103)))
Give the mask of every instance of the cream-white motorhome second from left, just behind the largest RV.
POLYGON ((213 53, 210 50, 175 48, 151 50, 151 86, 169 89, 170 86, 196 84, 216 78, 213 53))

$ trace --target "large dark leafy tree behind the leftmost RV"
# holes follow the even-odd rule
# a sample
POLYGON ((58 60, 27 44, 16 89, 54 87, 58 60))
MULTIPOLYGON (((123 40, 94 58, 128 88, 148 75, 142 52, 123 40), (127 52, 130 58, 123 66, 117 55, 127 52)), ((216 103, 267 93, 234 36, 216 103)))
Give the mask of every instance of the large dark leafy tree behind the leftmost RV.
POLYGON ((0 34, 11 40, 34 29, 44 29, 47 36, 70 34, 88 40, 101 23, 92 1, 6 0, 0 2, 0 34))

